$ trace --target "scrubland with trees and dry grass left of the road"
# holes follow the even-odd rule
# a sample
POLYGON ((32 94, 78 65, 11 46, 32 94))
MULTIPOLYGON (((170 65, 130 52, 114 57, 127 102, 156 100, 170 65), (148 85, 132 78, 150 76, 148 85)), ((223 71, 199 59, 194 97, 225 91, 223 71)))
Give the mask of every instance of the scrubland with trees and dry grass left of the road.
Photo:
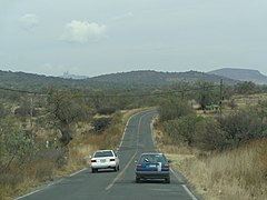
POLYGON ((140 110, 113 106, 123 100, 89 99, 77 91, 1 94, 0 199, 87 168, 97 149, 116 150, 126 121, 140 110))

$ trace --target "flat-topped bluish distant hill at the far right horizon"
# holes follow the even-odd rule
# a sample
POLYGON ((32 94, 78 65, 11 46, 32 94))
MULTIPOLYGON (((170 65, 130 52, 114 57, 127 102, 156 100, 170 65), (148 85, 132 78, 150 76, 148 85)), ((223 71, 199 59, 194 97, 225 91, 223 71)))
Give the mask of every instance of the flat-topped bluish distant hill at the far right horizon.
POLYGON ((239 81, 253 81, 256 84, 267 84, 267 77, 260 73, 258 70, 222 68, 209 71, 208 73, 222 76, 239 81))

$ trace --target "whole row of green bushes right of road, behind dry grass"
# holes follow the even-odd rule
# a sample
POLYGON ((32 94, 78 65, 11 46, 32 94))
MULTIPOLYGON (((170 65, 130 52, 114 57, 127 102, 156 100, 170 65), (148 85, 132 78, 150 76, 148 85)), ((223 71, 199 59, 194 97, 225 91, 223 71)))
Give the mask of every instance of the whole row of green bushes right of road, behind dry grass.
POLYGON ((174 142, 182 141, 201 150, 224 150, 267 136, 266 118, 257 110, 240 110, 226 117, 187 114, 162 123, 174 142))

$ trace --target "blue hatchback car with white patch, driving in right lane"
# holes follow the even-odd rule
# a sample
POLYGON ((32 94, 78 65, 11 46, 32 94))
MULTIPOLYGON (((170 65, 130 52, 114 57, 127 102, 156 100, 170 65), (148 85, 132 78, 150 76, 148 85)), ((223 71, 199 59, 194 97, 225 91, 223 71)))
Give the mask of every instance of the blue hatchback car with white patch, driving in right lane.
POLYGON ((169 162, 164 153, 144 152, 136 161, 136 182, 159 179, 170 183, 169 162))

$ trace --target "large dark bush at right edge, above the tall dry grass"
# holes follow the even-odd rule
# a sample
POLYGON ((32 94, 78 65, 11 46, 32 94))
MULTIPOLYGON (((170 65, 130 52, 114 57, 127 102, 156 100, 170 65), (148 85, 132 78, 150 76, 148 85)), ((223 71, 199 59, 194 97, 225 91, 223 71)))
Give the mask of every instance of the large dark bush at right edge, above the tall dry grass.
POLYGON ((196 129, 196 147, 202 150, 222 150, 266 137, 267 124, 256 111, 241 110, 224 118, 206 118, 196 129))

